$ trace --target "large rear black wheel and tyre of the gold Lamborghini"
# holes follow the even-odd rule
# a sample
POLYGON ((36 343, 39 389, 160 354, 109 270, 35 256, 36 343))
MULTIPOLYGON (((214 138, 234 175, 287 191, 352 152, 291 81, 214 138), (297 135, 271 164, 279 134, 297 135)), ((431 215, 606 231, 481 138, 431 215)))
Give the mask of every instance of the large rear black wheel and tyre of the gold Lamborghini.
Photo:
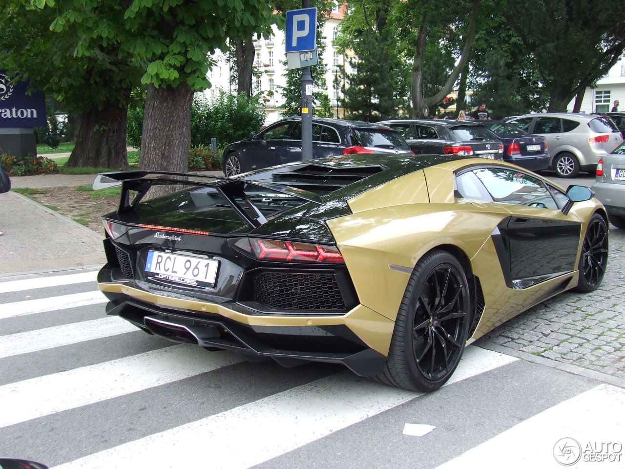
POLYGON ((412 271, 395 323, 391 350, 376 380, 434 391, 451 377, 471 322, 467 278, 457 259, 434 250, 412 271))

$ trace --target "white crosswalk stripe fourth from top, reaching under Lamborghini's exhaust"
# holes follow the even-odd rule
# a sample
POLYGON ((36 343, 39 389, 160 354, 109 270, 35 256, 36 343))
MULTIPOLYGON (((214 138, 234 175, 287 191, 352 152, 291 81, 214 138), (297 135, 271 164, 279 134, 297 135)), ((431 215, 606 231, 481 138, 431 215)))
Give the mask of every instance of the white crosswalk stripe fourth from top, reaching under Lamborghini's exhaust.
POLYGON ((235 353, 174 345, 0 386, 0 427, 93 404, 238 363, 235 353))

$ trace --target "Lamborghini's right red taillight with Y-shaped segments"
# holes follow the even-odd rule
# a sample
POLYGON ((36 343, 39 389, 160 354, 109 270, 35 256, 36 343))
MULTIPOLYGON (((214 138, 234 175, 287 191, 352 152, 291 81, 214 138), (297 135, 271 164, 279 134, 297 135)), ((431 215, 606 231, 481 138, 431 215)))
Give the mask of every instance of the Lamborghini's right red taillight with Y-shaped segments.
POLYGON ((234 243, 234 246, 259 260, 344 263, 343 256, 336 246, 257 238, 241 238, 234 243))

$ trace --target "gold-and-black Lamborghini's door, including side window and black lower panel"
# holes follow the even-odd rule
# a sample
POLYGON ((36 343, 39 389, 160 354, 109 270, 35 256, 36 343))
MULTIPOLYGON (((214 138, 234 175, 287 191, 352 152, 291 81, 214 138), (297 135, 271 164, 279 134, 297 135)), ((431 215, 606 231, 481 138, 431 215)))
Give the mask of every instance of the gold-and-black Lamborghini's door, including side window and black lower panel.
POLYGON ((497 226, 496 248, 510 288, 576 270, 581 221, 562 213, 565 194, 542 179, 499 167, 464 171, 456 183, 458 196, 492 201, 509 212, 497 226))

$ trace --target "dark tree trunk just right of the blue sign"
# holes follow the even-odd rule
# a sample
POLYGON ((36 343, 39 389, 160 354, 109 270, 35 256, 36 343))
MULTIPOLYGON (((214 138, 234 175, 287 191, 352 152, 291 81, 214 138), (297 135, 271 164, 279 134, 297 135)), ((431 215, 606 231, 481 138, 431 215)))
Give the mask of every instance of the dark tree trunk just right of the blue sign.
MULTIPOLYGON (((124 103, 126 100, 124 100, 124 103)), ((107 103, 79 118, 76 146, 65 166, 70 168, 128 168, 126 118, 128 104, 107 103)))

